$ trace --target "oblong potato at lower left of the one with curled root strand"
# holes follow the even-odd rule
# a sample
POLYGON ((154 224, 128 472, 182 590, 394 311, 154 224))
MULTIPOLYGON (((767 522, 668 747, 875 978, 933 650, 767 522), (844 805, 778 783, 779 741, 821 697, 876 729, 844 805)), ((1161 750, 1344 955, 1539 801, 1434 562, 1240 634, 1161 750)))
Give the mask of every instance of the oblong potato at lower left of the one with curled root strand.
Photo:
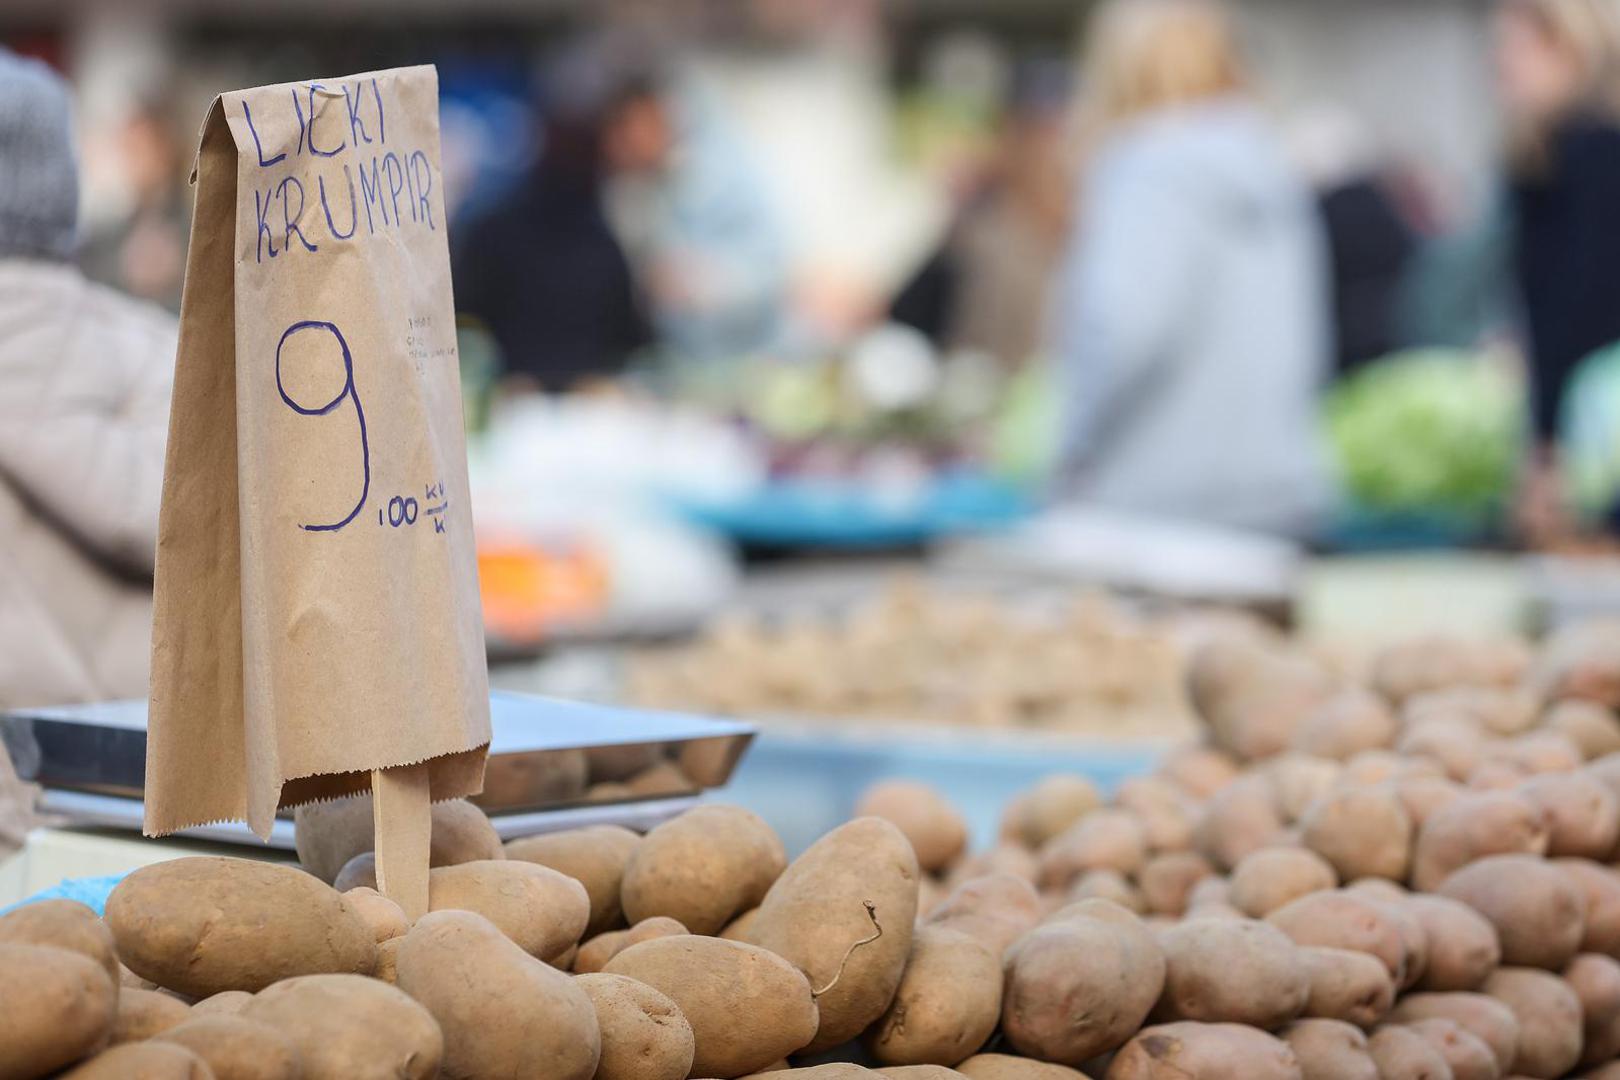
POLYGON ((739 941, 690 934, 643 941, 606 972, 676 1002, 692 1025, 693 1077, 747 1075, 799 1052, 816 1033, 816 1002, 804 973, 739 941))

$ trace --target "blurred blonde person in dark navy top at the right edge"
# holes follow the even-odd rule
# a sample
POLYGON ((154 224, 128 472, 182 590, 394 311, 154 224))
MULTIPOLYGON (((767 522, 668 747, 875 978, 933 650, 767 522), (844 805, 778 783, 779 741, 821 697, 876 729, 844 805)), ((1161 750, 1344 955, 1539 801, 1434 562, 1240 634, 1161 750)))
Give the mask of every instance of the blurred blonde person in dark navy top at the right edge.
POLYGON ((1567 387, 1620 342, 1620 16, 1612 0, 1507 0, 1495 66, 1534 432, 1520 523, 1554 542, 1573 528, 1557 450, 1567 387))

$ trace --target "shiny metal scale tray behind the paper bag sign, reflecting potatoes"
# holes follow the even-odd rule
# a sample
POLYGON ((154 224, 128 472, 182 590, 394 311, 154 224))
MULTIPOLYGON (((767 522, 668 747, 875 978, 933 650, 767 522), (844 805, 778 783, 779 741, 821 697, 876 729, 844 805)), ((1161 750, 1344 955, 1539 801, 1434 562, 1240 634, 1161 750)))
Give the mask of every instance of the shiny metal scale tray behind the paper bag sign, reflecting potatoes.
MULTIPOLYGON (((502 839, 586 824, 646 829, 721 787, 755 729, 679 712, 619 709, 491 691, 489 764, 475 798, 502 839)), ((146 785, 146 703, 105 701, 0 714, 0 743, 18 776, 39 784, 39 810, 73 824, 139 832, 146 785)), ((245 824, 178 836, 259 847, 245 824)), ((282 811, 271 847, 293 847, 282 811)))

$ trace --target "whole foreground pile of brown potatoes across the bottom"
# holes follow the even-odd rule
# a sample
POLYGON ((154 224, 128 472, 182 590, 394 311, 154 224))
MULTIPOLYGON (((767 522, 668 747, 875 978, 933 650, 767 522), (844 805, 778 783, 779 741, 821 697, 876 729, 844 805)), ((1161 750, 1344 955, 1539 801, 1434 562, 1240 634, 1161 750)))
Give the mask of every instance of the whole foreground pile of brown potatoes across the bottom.
POLYGON ((408 925, 368 801, 301 808, 301 868, 0 916, 0 1080, 1620 1080, 1620 630, 1189 678, 1205 743, 977 853, 904 780, 792 861, 735 806, 502 844, 449 801, 408 925))

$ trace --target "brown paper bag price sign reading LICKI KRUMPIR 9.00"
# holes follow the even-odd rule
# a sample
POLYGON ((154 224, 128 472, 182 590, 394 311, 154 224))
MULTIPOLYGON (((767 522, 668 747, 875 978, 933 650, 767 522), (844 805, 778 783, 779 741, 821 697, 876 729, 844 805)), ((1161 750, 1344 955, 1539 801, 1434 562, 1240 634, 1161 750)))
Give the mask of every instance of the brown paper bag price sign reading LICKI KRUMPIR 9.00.
POLYGON ((146 832, 489 743, 433 68, 219 97, 157 541, 146 832))

